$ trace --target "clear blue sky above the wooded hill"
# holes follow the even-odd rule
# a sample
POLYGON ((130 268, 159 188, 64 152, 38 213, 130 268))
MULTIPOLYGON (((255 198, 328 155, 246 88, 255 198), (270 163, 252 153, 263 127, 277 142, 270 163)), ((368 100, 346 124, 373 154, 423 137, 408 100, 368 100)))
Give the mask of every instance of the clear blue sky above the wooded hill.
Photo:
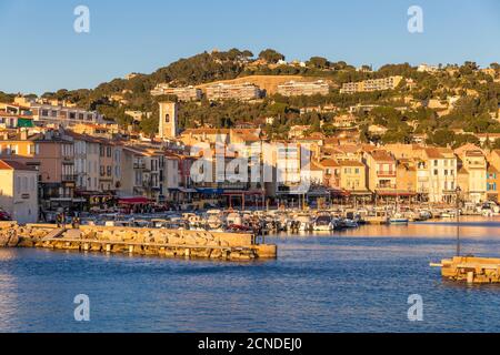
POLYGON ((214 48, 373 64, 500 62, 498 0, 0 0, 0 90, 93 88, 214 48), (73 9, 90 9, 76 33, 73 9), (423 33, 407 30, 410 6, 423 33))

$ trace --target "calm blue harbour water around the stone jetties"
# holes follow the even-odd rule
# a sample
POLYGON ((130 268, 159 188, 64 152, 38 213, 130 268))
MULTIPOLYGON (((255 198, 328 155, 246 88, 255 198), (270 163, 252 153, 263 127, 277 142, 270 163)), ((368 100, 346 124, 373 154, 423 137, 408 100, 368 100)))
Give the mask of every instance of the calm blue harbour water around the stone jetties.
MULTIPOLYGON (((461 234, 464 253, 500 255, 500 219, 461 234)), ((274 236, 278 260, 242 264, 0 250, 0 332, 500 332, 500 286, 429 267, 454 237, 451 221, 274 236), (90 322, 73 318, 77 294, 90 322)))

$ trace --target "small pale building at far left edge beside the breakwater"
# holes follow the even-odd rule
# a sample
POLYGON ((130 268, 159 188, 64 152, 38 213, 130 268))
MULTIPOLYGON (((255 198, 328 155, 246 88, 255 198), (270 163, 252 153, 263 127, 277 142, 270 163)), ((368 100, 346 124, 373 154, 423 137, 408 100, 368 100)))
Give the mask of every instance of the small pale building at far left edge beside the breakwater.
POLYGON ((0 206, 18 223, 38 222, 38 171, 23 163, 0 160, 0 206))

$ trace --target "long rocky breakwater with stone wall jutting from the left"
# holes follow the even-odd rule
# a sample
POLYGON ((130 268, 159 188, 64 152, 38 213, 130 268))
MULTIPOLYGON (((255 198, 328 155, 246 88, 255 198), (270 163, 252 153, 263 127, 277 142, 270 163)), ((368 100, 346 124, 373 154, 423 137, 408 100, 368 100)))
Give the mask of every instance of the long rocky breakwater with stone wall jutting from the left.
POLYGON ((246 233, 212 233, 108 226, 61 227, 0 222, 0 247, 43 247, 80 252, 250 261, 277 257, 277 246, 246 233))

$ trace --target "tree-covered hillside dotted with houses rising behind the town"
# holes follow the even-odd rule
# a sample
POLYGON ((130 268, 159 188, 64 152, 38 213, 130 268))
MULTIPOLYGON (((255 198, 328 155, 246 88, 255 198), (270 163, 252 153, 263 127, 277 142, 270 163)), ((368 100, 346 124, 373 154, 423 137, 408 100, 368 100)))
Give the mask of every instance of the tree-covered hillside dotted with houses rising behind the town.
MULTIPOLYGON (((267 90, 259 102, 201 102, 180 105, 180 126, 200 125, 230 128, 253 122, 264 128, 271 138, 287 136, 294 124, 310 125, 311 132, 334 135, 339 128, 336 118, 347 114, 356 105, 371 105, 370 112, 354 112, 356 125, 366 141, 410 142, 414 135, 426 135, 438 145, 453 145, 462 141, 476 142, 477 133, 500 133, 500 65, 479 68, 468 61, 461 65, 439 65, 420 70, 409 63, 386 64, 378 70, 360 70, 346 62, 331 62, 313 57, 304 63, 283 62, 284 55, 264 50, 256 58, 250 51, 231 49, 227 52, 203 52, 180 59, 150 74, 114 79, 92 90, 61 89, 43 98, 67 100, 78 106, 98 110, 122 126, 134 125, 137 131, 153 134, 158 129, 158 103, 150 90, 158 83, 172 87, 197 85, 206 89, 217 82, 252 82, 267 90), (342 94, 333 89, 346 82, 383 79, 400 75, 404 80, 392 90, 342 94), (333 83, 329 94, 284 98, 276 94, 277 85, 290 80, 326 79, 333 83), (336 112, 312 112, 304 108, 336 108, 336 112), (127 110, 151 112, 139 124, 126 114, 127 110), (307 112, 306 112, 307 111, 307 112), (274 118, 267 124, 267 118, 274 118), (379 136, 370 125, 387 128, 379 136), (467 132, 467 134, 456 134, 467 132)), ((12 101, 13 94, 0 92, 1 101, 12 101)), ((500 143, 499 143, 500 144, 500 143)))

